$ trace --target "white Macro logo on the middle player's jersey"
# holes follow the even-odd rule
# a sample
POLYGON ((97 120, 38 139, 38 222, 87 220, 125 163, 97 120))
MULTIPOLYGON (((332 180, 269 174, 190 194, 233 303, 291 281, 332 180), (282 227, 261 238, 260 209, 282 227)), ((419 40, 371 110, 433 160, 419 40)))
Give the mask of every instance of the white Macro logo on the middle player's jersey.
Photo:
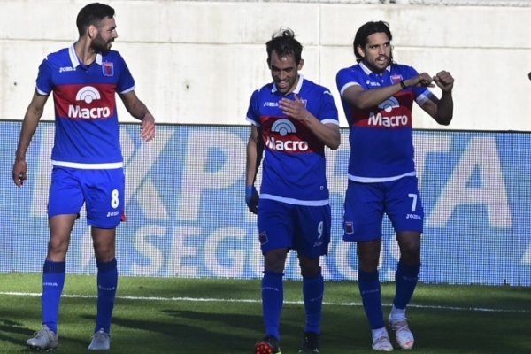
POLYGON ((308 150, 308 142, 299 140, 296 127, 289 119, 275 120, 267 135, 266 146, 271 150, 300 152, 308 150), (276 135, 276 137, 275 137, 276 135))

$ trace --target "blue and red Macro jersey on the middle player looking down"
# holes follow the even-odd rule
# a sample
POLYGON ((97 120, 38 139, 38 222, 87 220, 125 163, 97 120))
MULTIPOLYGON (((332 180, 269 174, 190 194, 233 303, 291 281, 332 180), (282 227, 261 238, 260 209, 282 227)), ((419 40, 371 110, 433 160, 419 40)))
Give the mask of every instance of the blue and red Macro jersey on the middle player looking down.
POLYGON ((328 204, 325 144, 279 108, 281 98, 303 100, 323 124, 339 125, 334 98, 327 88, 299 75, 296 89, 284 96, 269 83, 250 97, 247 120, 262 132, 264 162, 260 197, 297 205, 328 204))

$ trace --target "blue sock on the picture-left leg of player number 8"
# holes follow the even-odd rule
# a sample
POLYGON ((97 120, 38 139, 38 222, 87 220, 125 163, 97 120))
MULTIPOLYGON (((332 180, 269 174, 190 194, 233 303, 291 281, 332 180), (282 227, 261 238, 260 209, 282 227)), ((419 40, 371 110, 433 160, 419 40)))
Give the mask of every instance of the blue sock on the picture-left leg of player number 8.
POLYGON ((42 324, 58 333, 59 303, 65 286, 66 262, 45 260, 42 266, 42 324))

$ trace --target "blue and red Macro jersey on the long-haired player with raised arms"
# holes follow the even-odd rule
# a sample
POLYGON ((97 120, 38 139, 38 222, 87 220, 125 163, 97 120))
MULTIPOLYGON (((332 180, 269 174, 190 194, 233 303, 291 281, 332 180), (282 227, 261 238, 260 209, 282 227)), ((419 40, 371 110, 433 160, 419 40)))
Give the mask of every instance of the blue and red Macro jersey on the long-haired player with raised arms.
POLYGON ((345 89, 352 85, 380 89, 416 75, 417 71, 407 65, 390 65, 380 74, 363 63, 337 73, 337 89, 350 127, 350 180, 393 181, 415 175, 412 105, 413 101, 424 104, 432 94, 427 88, 403 89, 378 106, 361 110, 344 100, 345 89))

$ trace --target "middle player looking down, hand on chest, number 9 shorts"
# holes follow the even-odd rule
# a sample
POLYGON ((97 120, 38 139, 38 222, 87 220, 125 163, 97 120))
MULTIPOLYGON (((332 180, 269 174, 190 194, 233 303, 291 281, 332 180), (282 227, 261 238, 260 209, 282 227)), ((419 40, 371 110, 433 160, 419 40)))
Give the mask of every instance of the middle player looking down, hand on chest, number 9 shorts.
POLYGON ((257 354, 280 353, 282 276, 296 250, 303 276, 306 323, 299 353, 319 353, 324 282, 319 258, 330 241, 325 146, 340 143, 338 112, 330 91, 304 79, 303 47, 290 29, 266 43, 273 82, 250 97, 247 120, 245 201, 258 212, 258 239, 265 257, 262 303, 265 337, 257 354), (264 157, 260 196, 254 182, 264 157))

